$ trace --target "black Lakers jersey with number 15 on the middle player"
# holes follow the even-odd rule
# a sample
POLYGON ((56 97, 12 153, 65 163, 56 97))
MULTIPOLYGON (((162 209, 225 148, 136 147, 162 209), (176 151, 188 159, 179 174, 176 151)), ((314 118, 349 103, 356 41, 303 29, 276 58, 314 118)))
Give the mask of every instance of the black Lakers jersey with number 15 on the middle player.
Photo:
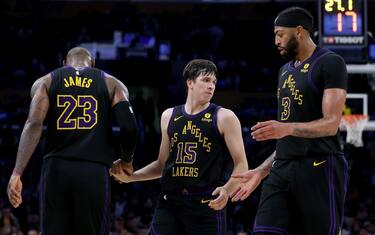
POLYGON ((170 154, 161 178, 162 190, 222 185, 228 170, 228 150, 217 129, 217 111, 210 104, 189 115, 176 106, 168 124, 170 154))

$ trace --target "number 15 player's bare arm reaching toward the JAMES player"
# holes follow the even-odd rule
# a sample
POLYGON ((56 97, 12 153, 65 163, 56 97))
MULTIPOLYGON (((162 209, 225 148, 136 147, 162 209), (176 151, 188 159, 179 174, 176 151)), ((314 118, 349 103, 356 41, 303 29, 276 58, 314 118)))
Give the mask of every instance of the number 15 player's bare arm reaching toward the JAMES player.
POLYGON ((116 175, 116 178, 122 182, 146 181, 160 178, 164 169, 165 162, 169 156, 170 140, 168 136, 168 123, 172 116, 173 109, 167 109, 161 115, 160 125, 162 138, 159 149, 158 158, 148 164, 147 166, 135 171, 132 175, 126 176, 124 174, 116 175))

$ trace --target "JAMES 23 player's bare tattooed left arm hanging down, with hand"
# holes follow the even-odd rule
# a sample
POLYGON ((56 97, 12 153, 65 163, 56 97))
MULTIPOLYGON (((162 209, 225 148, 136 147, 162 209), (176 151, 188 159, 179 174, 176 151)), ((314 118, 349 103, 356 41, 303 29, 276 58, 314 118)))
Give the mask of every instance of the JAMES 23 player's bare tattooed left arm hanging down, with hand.
POLYGON ((16 165, 8 184, 8 198, 14 207, 22 203, 21 175, 39 143, 43 130, 43 121, 49 108, 48 89, 51 76, 39 78, 31 88, 31 104, 29 115, 23 128, 17 151, 16 165))

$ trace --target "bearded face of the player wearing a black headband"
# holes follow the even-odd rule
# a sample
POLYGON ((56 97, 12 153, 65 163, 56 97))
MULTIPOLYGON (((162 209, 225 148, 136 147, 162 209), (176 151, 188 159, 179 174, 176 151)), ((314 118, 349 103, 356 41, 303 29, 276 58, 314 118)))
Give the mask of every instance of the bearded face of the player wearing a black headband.
POLYGON ((295 37, 295 28, 276 26, 275 45, 280 55, 287 60, 294 60, 297 55, 298 42, 295 37))

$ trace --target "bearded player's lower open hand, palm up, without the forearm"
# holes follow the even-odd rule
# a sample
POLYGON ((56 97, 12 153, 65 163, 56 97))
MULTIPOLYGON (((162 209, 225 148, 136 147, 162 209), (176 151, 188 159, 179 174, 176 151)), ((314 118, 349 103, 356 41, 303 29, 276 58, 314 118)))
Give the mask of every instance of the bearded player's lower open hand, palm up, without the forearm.
POLYGON ((258 168, 248 170, 241 174, 232 175, 233 178, 241 180, 241 183, 230 195, 232 202, 245 200, 258 187, 265 175, 267 174, 258 168))

